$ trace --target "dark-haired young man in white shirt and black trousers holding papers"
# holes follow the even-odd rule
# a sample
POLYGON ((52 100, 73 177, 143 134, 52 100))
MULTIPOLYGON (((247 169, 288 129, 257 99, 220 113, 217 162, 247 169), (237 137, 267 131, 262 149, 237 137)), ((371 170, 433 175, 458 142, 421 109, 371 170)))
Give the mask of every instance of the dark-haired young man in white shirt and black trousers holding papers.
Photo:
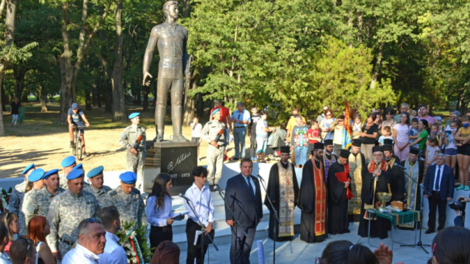
MULTIPOLYGON (((212 194, 206 186, 207 182, 207 169, 204 167, 196 167, 193 170, 194 183, 186 190, 184 194, 187 199, 184 200, 186 210, 189 211, 189 219, 186 222, 186 238, 187 238, 187 257, 186 264, 194 264, 196 258, 197 264, 204 263, 204 255, 206 254, 208 245, 201 244, 201 236, 196 245, 194 245, 195 234, 197 230, 201 230, 199 221, 205 226, 206 232, 210 233, 212 230, 212 222, 214 221, 214 203, 212 201, 212 194), (197 216, 194 214, 196 212, 197 216), (203 245, 201 253, 201 245, 203 245)), ((213 234, 211 234, 213 237, 213 234)), ((202 241, 204 241, 202 239, 202 241)))

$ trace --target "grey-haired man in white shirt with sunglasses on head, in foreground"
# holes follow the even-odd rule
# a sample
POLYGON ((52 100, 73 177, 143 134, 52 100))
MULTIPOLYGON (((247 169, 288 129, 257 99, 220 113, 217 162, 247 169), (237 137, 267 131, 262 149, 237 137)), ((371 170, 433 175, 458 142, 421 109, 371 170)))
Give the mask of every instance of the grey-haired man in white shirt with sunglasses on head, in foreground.
POLYGON ((103 253, 106 237, 105 228, 96 218, 83 219, 78 224, 78 240, 75 248, 67 252, 62 259, 62 264, 97 264, 103 253))

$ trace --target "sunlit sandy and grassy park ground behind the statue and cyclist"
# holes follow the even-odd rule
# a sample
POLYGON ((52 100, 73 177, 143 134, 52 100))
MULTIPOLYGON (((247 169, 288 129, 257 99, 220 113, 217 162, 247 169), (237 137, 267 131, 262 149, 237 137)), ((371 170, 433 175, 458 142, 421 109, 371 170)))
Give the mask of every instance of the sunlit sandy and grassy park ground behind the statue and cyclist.
MULTIPOLYGON (((61 160, 71 155, 69 134, 66 125, 55 124, 59 115, 58 104, 48 104, 48 112, 41 113, 39 103, 25 104, 25 117, 22 125, 11 126, 11 115, 4 112, 7 136, 0 138, 0 178, 19 176, 27 164, 34 162, 37 168, 48 171, 61 169, 61 160)), ((105 170, 125 170, 125 152, 119 146, 119 136, 128 123, 111 122, 112 115, 103 108, 84 111, 90 122, 85 129, 86 152, 89 156, 82 160, 85 171, 103 165, 105 170)), ((142 112, 142 108, 128 107, 127 113, 142 112)), ((165 140, 173 134, 170 111, 167 111, 165 140)), ((207 120, 201 120, 205 124, 207 120)), ((150 109, 141 114, 141 125, 147 127, 147 140, 155 137, 154 111, 150 109)), ((184 137, 191 139, 191 129, 183 126, 184 137)), ((249 146, 249 139, 247 138, 249 146)), ((229 157, 234 155, 233 143, 229 146, 229 157)), ((200 165, 206 164, 207 143, 200 146, 200 165)), ((227 162, 227 161, 226 161, 227 162)), ((230 161, 231 162, 231 161, 230 161)))

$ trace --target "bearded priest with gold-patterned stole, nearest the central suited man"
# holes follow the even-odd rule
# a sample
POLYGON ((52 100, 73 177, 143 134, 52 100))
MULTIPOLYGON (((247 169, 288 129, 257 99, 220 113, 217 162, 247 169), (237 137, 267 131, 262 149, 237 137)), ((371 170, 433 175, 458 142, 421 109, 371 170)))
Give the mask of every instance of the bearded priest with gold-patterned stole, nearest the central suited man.
POLYGON ((269 238, 290 241, 294 238, 294 208, 297 206, 299 184, 289 160, 289 147, 280 147, 280 160, 271 167, 264 204, 269 208, 269 238), (276 209, 280 225, 268 201, 276 209), (274 235, 275 233, 275 235, 274 235))

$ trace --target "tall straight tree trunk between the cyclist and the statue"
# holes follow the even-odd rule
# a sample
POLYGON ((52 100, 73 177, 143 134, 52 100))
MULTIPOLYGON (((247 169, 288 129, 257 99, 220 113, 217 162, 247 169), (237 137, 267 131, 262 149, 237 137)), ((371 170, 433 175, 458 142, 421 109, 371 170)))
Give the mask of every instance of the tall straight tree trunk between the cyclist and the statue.
POLYGON ((114 9, 116 22, 116 38, 114 44, 114 64, 112 73, 113 95, 113 122, 126 122, 126 101, 124 99, 124 85, 122 83, 122 46, 124 35, 122 34, 122 0, 116 2, 114 9))

